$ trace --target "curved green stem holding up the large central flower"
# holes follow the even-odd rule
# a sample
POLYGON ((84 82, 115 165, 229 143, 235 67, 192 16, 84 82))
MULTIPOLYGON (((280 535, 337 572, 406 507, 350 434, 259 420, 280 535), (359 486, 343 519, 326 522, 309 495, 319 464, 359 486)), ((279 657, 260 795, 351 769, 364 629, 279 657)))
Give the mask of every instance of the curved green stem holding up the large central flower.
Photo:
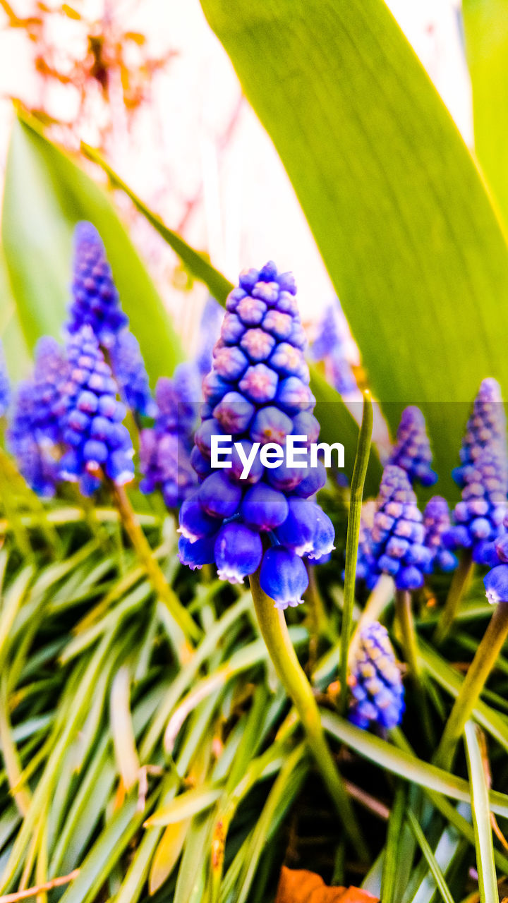
POLYGON ((287 695, 295 704, 296 712, 298 712, 306 731, 309 748, 343 822, 344 830, 362 861, 366 861, 367 849, 362 832, 356 821, 351 800, 343 785, 343 779, 328 749, 314 694, 296 658, 295 649, 287 632, 284 614, 275 608, 274 601, 261 590, 258 573, 253 574, 249 580, 259 629, 267 645, 268 654, 287 695))

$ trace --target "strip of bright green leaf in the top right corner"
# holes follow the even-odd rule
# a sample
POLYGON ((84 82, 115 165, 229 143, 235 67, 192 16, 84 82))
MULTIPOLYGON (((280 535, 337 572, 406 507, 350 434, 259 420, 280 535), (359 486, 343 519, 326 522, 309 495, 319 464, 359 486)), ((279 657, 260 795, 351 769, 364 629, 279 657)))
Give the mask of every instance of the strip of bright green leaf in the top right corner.
POLYGON ((475 153, 508 226, 508 7, 504 0, 463 0, 462 10, 475 153))

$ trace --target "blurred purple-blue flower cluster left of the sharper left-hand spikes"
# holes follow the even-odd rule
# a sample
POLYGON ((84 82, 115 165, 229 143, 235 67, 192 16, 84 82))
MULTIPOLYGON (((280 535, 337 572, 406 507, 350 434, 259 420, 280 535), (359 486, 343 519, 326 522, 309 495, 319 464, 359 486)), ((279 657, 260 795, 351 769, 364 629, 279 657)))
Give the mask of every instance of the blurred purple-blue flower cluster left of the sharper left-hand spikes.
POLYGON ((42 498, 54 496, 58 481, 68 378, 64 349, 50 336, 43 336, 35 348, 33 377, 17 388, 7 432, 20 472, 42 498))

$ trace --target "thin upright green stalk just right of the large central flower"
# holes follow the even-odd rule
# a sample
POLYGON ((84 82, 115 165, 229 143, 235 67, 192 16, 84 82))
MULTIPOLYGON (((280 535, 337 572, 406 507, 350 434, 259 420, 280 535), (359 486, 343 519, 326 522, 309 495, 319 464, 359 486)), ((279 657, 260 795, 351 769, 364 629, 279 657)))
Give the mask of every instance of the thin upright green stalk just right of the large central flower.
POLYGON ((343 596, 343 623, 341 628, 341 659, 339 680, 341 684, 340 712, 343 714, 347 706, 347 661, 348 648, 353 626, 354 587, 356 582, 356 556, 358 554, 358 537, 362 517, 362 498, 365 474, 371 453, 372 439, 372 400, 368 391, 363 392, 362 426, 358 435, 356 458, 354 460, 353 479, 351 480, 351 500, 347 518, 347 535, 345 543, 345 573, 343 596))

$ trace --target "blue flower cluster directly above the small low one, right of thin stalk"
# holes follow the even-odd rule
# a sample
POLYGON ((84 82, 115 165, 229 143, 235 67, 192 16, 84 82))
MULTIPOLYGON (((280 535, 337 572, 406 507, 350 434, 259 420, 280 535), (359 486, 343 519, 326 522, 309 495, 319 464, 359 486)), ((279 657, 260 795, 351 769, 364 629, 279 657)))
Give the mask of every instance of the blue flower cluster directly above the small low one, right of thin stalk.
POLYGON ((406 471, 388 464, 372 526, 372 556, 379 571, 394 578, 398 590, 418 590, 428 571, 430 553, 422 521, 406 471))

